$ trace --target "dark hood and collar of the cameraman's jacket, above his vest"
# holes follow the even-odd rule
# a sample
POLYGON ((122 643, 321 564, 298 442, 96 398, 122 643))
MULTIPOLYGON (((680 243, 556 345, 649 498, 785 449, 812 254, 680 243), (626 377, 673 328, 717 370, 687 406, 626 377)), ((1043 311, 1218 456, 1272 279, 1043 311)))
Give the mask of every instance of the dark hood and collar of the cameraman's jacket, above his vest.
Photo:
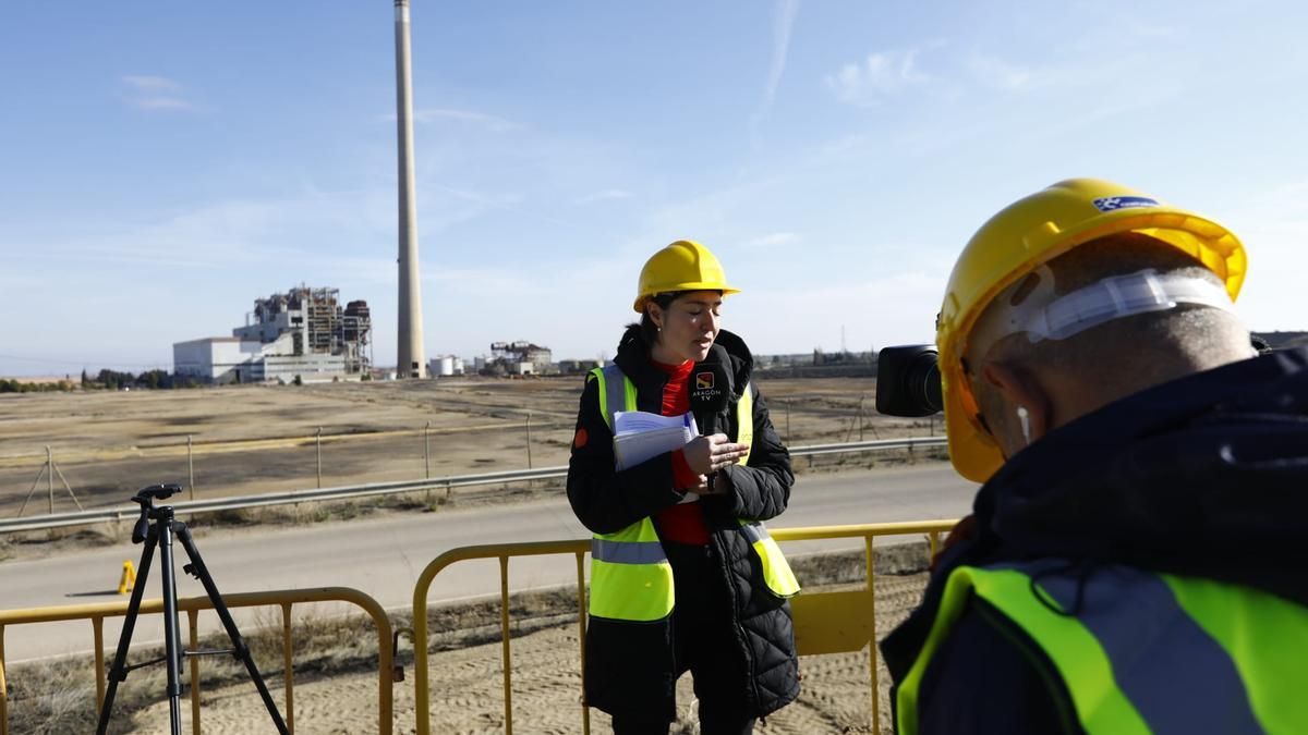
POLYGON ((1189 375, 1061 426, 1005 463, 973 515, 977 536, 944 555, 922 606, 882 641, 896 680, 963 565, 1118 562, 1308 604, 1308 348, 1189 375))

